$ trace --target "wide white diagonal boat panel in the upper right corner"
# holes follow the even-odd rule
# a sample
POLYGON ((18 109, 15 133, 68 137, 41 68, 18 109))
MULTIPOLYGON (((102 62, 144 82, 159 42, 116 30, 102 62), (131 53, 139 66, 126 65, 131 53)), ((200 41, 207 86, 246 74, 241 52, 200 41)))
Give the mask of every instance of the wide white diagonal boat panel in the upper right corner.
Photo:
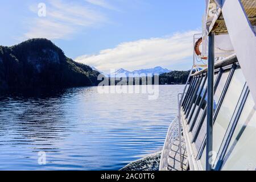
POLYGON ((229 36, 246 78, 250 91, 256 101, 256 36, 255 28, 242 7, 241 1, 223 0, 222 14, 229 36))

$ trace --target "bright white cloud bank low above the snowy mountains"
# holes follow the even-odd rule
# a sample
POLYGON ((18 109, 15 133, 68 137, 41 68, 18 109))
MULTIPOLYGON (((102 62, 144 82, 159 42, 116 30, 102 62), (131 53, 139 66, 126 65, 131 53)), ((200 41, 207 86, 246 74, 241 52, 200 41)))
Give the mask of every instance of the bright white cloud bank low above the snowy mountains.
POLYGON ((83 55, 76 61, 92 65, 101 71, 124 68, 128 70, 171 65, 192 61, 193 34, 198 30, 176 33, 163 38, 142 39, 125 42, 97 55, 83 55))

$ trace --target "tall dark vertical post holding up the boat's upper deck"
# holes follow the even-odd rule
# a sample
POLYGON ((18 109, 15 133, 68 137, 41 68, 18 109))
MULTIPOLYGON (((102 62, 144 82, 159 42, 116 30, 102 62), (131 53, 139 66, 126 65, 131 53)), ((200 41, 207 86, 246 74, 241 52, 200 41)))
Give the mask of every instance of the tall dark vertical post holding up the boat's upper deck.
POLYGON ((208 88, 207 88, 207 145, 206 170, 212 171, 213 149, 213 81, 214 81, 214 32, 209 34, 208 46, 208 88))

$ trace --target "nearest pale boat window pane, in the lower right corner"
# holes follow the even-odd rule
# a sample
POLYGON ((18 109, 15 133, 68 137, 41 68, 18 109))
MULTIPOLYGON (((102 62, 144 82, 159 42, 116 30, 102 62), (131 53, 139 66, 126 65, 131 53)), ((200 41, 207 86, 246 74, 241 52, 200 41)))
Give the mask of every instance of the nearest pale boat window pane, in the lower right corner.
POLYGON ((249 94, 226 152, 222 170, 256 169, 256 113, 253 97, 249 94))

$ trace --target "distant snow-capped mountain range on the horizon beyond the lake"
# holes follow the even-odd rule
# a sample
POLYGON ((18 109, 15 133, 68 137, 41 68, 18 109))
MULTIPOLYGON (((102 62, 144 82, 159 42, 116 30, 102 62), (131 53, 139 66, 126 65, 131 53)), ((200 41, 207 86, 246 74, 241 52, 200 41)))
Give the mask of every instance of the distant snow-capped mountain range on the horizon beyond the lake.
POLYGON ((129 77, 130 75, 141 75, 141 74, 144 74, 144 75, 155 75, 155 74, 163 74, 163 73, 170 73, 171 70, 170 69, 166 69, 166 68, 162 68, 162 67, 155 67, 155 68, 149 68, 149 69, 139 69, 139 70, 135 70, 135 71, 127 71, 126 69, 118 69, 117 71, 115 71, 114 73, 110 73, 110 74, 107 74, 107 73, 104 73, 104 72, 101 72, 99 71, 97 68, 95 67, 92 67, 92 69, 94 71, 98 71, 100 72, 102 75, 106 76, 106 77, 129 77))

